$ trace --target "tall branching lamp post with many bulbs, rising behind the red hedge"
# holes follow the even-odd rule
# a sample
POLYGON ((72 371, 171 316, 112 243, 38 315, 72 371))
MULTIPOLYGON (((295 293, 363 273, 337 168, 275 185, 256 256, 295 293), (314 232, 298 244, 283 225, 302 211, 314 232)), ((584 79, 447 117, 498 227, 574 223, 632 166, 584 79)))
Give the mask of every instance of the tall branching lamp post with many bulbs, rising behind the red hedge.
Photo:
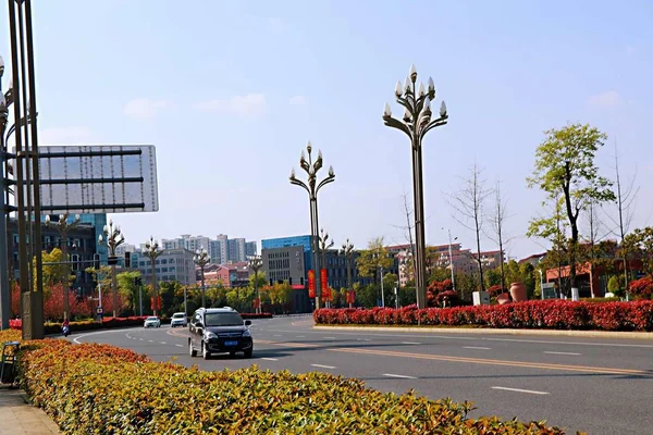
POLYGON ((410 66, 410 72, 404 86, 397 82, 395 97, 399 104, 405 109, 403 120, 399 121, 392 116, 390 105, 385 103, 383 110, 383 123, 396 129, 404 132, 410 139, 412 149, 412 192, 415 196, 415 236, 416 236, 416 268, 415 286, 417 291, 418 308, 427 306, 427 262, 426 262, 426 236, 424 236, 424 196, 422 177, 422 140, 431 129, 444 125, 447 122, 446 105, 444 101, 440 107, 440 116, 432 120, 431 101, 435 98, 435 85, 429 77, 428 88, 424 89, 423 83, 417 87, 417 71, 415 65, 410 66))

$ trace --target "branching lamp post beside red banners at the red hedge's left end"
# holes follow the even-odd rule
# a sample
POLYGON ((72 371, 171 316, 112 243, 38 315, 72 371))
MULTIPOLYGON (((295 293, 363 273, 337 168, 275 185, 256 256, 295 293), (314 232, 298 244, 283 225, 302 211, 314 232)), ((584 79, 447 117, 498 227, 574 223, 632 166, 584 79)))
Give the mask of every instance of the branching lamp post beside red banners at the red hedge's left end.
POLYGON ((291 184, 295 186, 303 187, 308 192, 309 203, 310 203, 310 236, 311 236, 311 245, 312 245, 312 263, 316 275, 316 309, 320 308, 320 297, 322 296, 322 288, 320 285, 320 268, 318 263, 319 258, 319 245, 318 245, 318 192, 320 189, 335 181, 335 173, 333 172, 333 166, 329 166, 329 175, 318 182, 318 171, 322 167, 322 151, 318 150, 318 158, 316 161, 312 161, 312 146, 310 141, 306 146, 306 151, 308 151, 308 160, 306 160, 306 154, 301 151, 301 158, 299 159, 299 166, 306 172, 308 175, 307 183, 301 182, 295 177, 295 169, 291 171, 291 184))

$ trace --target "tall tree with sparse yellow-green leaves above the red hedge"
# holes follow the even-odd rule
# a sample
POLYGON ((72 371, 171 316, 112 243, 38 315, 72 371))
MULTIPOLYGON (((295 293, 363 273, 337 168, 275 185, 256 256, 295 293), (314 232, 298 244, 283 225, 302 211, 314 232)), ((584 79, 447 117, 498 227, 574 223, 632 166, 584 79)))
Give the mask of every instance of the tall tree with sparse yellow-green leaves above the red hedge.
MULTIPOLYGON (((612 182, 599 175, 594 162, 596 151, 607 136, 589 124, 568 124, 560 129, 545 132, 546 138, 535 150, 533 174, 527 178, 529 187, 543 190, 549 200, 564 204, 571 236, 568 244, 569 281, 576 286, 577 251, 579 241, 578 217, 590 202, 600 204, 614 201, 612 182)), ((531 222, 532 233, 551 223, 531 222), (532 227, 532 226, 535 227, 532 227)))

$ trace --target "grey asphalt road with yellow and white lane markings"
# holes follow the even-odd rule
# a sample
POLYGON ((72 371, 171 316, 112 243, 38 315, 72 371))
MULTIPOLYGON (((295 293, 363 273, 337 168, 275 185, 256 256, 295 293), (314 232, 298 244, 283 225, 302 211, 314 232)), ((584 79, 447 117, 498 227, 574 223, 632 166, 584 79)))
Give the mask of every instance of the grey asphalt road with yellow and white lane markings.
POLYGON ((473 417, 546 420, 569 433, 653 434, 653 341, 438 332, 313 330, 312 318, 252 321, 254 358, 192 358, 187 330, 81 333, 156 361, 202 370, 257 364, 329 372, 397 394, 414 389, 477 406, 473 417))

